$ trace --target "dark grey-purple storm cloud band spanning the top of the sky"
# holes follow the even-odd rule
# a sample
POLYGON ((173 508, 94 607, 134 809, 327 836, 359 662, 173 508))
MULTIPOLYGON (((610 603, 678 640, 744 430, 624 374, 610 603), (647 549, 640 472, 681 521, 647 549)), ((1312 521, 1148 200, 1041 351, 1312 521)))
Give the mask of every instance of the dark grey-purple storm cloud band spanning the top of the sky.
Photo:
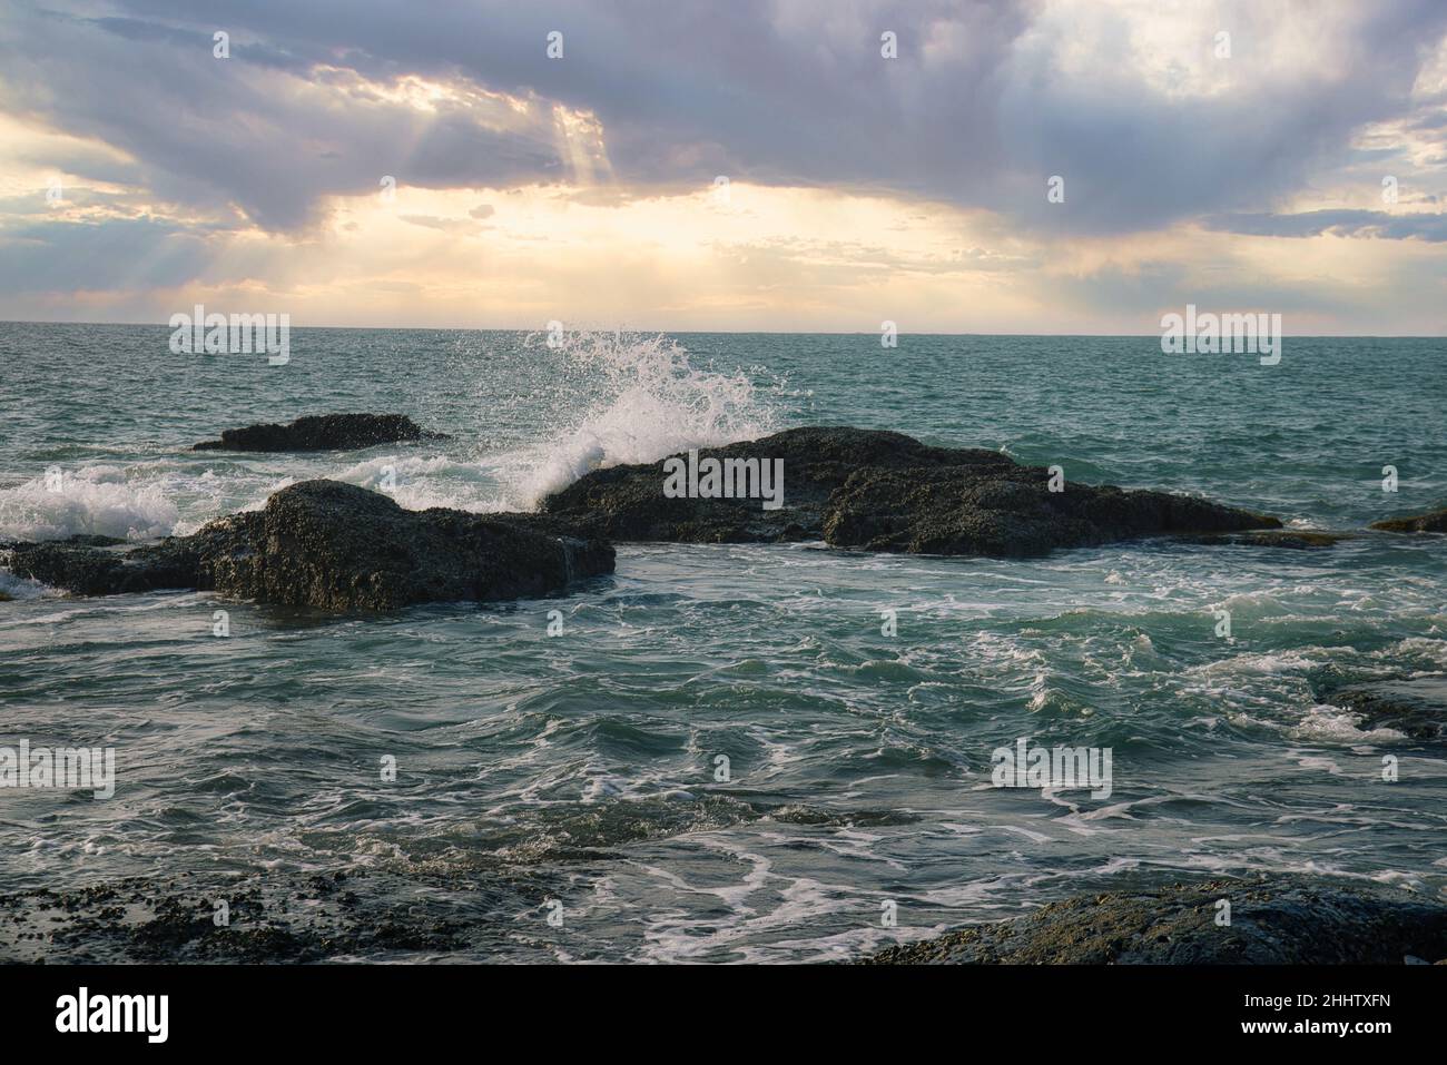
MULTIPOLYGON (((1134 69, 1124 14, 1084 9, 1098 23, 1094 52, 1066 65, 1071 27, 1023 0, 61 6, 0 22, 0 106, 124 149, 162 195, 234 204, 271 229, 301 226, 321 197, 373 190, 382 174, 431 187, 569 177, 551 137, 489 129, 466 109, 425 116, 368 100, 331 68, 460 78, 590 111, 628 187, 726 174, 939 198, 1042 234, 1116 233, 1265 211, 1346 165, 1362 126, 1411 117, 1417 72, 1447 32, 1437 0, 1347 6, 1331 68, 1307 58, 1288 77, 1272 67, 1279 27, 1229 6, 1234 55, 1223 62, 1237 84, 1168 94, 1134 69), (211 58, 213 29, 232 33, 229 62, 211 58), (544 54, 554 29, 561 61, 544 54), (886 29, 899 59, 880 58, 886 29), (330 91, 297 93, 284 74, 330 91), (1046 203, 1053 174, 1065 204, 1046 203)), ((1292 10, 1305 27, 1321 9, 1292 10)))

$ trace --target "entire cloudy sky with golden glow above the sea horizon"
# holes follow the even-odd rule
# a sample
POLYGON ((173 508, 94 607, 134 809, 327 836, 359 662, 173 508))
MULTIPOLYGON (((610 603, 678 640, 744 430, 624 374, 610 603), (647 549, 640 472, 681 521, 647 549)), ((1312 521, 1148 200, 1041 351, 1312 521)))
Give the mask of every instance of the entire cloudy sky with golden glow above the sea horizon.
POLYGON ((1440 336, 1444 195, 1441 0, 0 6, 6 320, 1440 336))

